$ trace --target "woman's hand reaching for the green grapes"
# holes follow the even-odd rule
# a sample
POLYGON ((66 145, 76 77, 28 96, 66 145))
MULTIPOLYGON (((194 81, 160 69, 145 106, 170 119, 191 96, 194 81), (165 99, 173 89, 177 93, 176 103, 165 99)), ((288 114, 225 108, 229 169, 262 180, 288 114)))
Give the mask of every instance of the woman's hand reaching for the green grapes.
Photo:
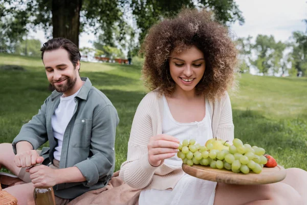
POLYGON ((156 135, 147 145, 148 162, 153 167, 160 166, 164 159, 173 157, 178 152, 179 139, 170 135, 156 135))

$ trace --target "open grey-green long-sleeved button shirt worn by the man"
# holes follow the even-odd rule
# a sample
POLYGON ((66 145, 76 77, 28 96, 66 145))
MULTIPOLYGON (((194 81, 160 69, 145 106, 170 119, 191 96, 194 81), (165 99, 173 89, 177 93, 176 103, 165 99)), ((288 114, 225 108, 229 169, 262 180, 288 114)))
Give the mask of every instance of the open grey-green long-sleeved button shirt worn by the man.
MULTIPOLYGON (((106 186, 115 167, 117 111, 111 101, 92 86, 89 78, 81 79, 85 83, 75 97, 74 114, 64 132, 59 169, 75 166, 86 181, 54 186, 55 195, 66 199, 106 186)), ((15 154, 18 141, 28 141, 36 150, 49 140, 50 148, 44 148, 41 155, 45 156, 45 165, 53 161, 57 141, 53 136, 51 117, 61 95, 53 91, 38 114, 21 127, 12 143, 15 154)))

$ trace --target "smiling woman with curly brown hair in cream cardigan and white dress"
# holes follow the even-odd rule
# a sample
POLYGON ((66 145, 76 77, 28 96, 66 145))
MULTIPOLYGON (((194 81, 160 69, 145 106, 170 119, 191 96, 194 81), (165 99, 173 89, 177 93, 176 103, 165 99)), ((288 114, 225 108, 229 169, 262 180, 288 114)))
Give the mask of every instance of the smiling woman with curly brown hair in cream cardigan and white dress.
POLYGON ((183 172, 179 142, 232 141, 227 90, 235 84, 237 50, 208 11, 184 9, 145 38, 143 77, 151 90, 136 111, 120 177, 142 189, 139 204, 299 204, 306 173, 289 169, 279 183, 226 185, 183 172), (298 178, 300 176, 300 178, 298 178))

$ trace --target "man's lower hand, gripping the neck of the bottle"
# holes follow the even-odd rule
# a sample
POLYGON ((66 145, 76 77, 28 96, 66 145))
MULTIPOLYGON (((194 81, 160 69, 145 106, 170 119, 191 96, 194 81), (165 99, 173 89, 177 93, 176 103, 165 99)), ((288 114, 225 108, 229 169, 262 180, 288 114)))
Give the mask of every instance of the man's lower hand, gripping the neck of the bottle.
POLYGON ((57 185, 57 172, 50 167, 39 165, 27 169, 26 172, 30 173, 34 187, 53 187, 57 185))

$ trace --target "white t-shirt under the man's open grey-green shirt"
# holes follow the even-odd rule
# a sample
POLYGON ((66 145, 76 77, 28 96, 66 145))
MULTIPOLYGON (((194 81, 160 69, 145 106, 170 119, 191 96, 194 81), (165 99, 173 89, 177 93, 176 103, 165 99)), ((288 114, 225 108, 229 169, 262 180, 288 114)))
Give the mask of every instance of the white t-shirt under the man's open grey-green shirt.
POLYGON ((68 97, 61 96, 60 103, 51 117, 53 135, 58 142, 57 147, 55 147, 55 151, 53 153, 53 157, 56 160, 61 159, 64 132, 74 114, 76 107, 75 96, 78 95, 80 90, 81 88, 75 94, 68 97))

